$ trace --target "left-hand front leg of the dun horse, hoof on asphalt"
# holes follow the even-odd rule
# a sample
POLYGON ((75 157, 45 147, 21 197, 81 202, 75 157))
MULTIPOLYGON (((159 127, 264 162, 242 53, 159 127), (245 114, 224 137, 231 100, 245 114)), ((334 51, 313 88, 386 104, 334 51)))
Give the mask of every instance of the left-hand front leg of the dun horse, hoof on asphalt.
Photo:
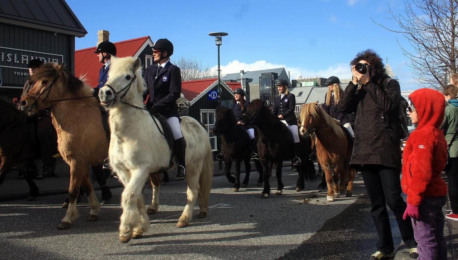
POLYGON ((57 226, 57 229, 67 229, 70 228, 71 223, 73 223, 78 217, 78 209, 76 208, 76 199, 80 194, 82 173, 84 168, 87 168, 87 165, 81 166, 81 163, 71 161, 70 163, 70 186, 68 188, 68 208, 65 214, 65 217, 60 221, 60 224, 57 226))

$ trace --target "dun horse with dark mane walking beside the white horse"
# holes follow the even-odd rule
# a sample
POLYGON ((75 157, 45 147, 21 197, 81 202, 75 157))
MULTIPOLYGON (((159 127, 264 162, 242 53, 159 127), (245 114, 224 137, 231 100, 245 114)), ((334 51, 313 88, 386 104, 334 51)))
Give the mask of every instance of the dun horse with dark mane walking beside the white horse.
MULTIPOLYGON (((109 143, 97 99, 83 81, 64 69, 63 64, 46 63, 33 74, 31 82, 33 87, 21 100, 22 109, 36 112, 51 107, 58 149, 70 165, 68 209, 57 228, 69 228, 78 218, 76 199, 80 187, 87 194, 91 207, 87 221, 96 221, 100 205, 88 166, 103 164, 109 143)), ((102 198, 111 197, 108 187, 102 186, 101 190, 102 198)))

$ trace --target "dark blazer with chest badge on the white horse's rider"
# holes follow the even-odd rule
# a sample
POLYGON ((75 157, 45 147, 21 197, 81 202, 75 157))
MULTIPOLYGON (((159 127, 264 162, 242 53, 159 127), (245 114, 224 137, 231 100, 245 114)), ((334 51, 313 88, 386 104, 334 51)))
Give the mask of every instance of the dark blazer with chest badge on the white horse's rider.
POLYGON ((147 84, 147 90, 144 93, 144 99, 149 94, 147 108, 159 112, 164 117, 180 117, 178 114, 178 105, 176 100, 181 94, 181 72, 180 68, 170 63, 170 61, 161 70, 156 77, 156 66, 147 67, 143 79, 147 84))

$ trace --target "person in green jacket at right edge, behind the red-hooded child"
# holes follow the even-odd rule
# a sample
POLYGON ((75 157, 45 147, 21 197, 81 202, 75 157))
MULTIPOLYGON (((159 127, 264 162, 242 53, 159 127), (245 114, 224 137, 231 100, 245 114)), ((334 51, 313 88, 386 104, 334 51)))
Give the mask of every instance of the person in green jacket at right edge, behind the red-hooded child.
MULTIPOLYGON (((458 74, 454 75, 458 76, 458 74)), ((452 79, 450 81, 452 82, 452 79)), ((445 116, 440 128, 443 130, 445 140, 450 146, 446 174, 448 179, 448 198, 452 208, 452 212, 445 217, 458 221, 458 136, 455 136, 458 130, 458 87, 453 84, 447 85, 442 90, 442 94, 447 106, 445 107, 445 116), (452 141, 453 136, 455 138, 452 141)))

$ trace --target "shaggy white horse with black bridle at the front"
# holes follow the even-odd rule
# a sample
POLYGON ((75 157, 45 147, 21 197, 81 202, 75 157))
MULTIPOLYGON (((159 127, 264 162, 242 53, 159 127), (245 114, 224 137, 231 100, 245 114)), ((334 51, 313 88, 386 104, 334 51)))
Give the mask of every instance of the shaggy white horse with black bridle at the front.
MULTIPOLYGON (((176 167, 171 148, 162 135, 162 125, 146 109, 141 109, 145 108, 142 98, 145 86, 139 58, 112 58, 109 80, 99 90, 100 103, 109 109, 110 166, 125 186, 119 228, 119 240, 123 243, 141 237, 148 230, 142 188, 150 173, 168 170, 171 160, 176 167)), ((181 119, 181 132, 186 141, 187 203, 178 220, 179 228, 191 222, 197 198, 198 217, 207 216, 213 179, 213 156, 207 131, 196 119, 186 116, 181 119)), ((153 190, 152 206, 158 205, 157 192, 153 190)))

